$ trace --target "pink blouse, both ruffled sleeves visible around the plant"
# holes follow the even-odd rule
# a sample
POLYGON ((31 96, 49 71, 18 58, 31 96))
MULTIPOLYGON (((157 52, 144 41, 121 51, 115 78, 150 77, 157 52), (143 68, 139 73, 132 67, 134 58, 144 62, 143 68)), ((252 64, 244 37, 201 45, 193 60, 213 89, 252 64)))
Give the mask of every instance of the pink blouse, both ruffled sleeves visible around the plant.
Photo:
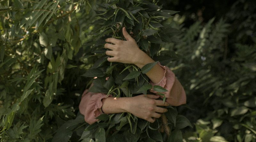
MULTIPOLYGON (((159 64, 160 65, 160 64, 159 64)), ((171 106, 179 106, 186 103, 186 94, 181 86, 179 80, 175 78, 175 74, 165 66, 160 65, 164 69, 164 77, 162 80, 154 84, 150 81, 152 86, 158 85, 164 87, 168 92, 164 92, 166 101, 171 106)), ((152 93, 157 93, 154 90, 150 90, 152 93)), ((109 95, 111 97, 111 95, 109 95)), ((102 107, 102 99, 107 98, 108 96, 104 93, 92 93, 88 92, 86 89, 82 95, 81 102, 79 104, 79 111, 84 115, 85 122, 92 124, 98 121, 96 117, 100 116, 101 112, 99 108, 102 107)), ((163 98, 163 96, 160 96, 163 98)))

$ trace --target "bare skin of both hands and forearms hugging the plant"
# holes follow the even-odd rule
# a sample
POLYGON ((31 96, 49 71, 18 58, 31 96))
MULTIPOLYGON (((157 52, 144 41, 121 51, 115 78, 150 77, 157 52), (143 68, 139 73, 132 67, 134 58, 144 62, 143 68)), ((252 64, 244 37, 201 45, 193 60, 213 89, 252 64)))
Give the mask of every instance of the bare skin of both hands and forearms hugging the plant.
MULTIPOLYGON (((112 56, 108 58, 109 62, 135 64, 139 68, 142 68, 148 63, 155 62, 145 52, 139 49, 136 41, 127 33, 125 27, 123 28, 123 35, 126 41, 115 38, 106 39, 108 43, 104 47, 111 49, 106 51, 106 55, 112 56)), ((164 77, 164 69, 156 64, 146 75, 153 83, 159 83, 164 77)), ((108 97, 102 100, 102 110, 106 114, 129 112, 153 123, 156 118, 161 117, 161 113, 167 112, 166 108, 158 106, 169 106, 167 102, 163 103, 163 101, 156 100, 158 98, 159 95, 150 94, 135 97, 108 97)))

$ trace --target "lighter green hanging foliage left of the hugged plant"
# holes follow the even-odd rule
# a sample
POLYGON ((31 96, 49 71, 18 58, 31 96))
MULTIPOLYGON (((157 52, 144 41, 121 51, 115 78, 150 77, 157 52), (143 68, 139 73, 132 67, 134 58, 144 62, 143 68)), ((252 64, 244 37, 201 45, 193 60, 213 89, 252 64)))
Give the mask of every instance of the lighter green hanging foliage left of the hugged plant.
POLYGON ((76 117, 79 93, 69 91, 66 82, 80 84, 86 68, 72 64, 87 39, 80 38, 78 18, 79 10, 87 13, 88 2, 0 3, 1 141, 50 141, 58 127, 76 117), (77 70, 72 76, 71 68, 77 70))

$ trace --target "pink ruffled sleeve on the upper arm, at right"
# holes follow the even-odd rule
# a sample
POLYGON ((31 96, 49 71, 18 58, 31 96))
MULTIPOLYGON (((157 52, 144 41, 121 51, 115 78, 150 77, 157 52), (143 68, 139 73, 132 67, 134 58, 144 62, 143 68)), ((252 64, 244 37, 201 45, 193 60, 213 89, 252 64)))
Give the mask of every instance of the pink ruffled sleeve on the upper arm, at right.
MULTIPOLYGON (((158 63, 163 69, 164 69, 164 77, 162 80, 154 84, 152 81, 150 81, 150 84, 152 86, 161 86, 168 90, 167 92, 164 92, 166 101, 171 105, 171 106, 179 106, 182 104, 186 103, 187 97, 186 93, 184 91, 184 88, 181 86, 179 80, 175 78, 175 74, 167 67, 162 66, 160 63, 158 63)), ((154 90, 150 90, 152 93, 157 93, 154 90)), ((160 96, 163 98, 163 96, 160 96)))

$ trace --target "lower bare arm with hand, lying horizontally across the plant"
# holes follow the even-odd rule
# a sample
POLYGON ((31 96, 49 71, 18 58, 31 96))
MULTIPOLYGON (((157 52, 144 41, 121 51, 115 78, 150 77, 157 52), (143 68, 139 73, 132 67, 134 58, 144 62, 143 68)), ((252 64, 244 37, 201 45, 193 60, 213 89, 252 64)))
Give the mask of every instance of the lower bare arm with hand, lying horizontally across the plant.
POLYGON ((102 100, 102 110, 107 114, 130 112, 139 118, 153 123, 156 118, 161 117, 159 113, 167 112, 166 108, 158 106, 169 106, 167 102, 163 103, 161 100, 155 100, 157 98, 159 98, 158 95, 139 95, 120 98, 108 97, 102 100))

